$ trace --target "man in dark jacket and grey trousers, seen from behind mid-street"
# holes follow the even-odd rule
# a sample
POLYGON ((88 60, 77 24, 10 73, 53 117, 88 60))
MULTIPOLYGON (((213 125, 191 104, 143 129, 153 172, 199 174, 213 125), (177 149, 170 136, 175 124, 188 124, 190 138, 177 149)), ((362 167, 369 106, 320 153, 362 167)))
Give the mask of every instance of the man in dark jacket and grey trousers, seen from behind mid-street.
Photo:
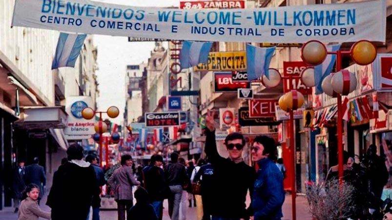
POLYGON ((183 184, 187 182, 185 165, 178 163, 178 153, 170 155, 171 162, 165 165, 165 179, 169 184, 171 195, 168 199, 169 216, 171 220, 179 219, 180 202, 183 193, 183 184))

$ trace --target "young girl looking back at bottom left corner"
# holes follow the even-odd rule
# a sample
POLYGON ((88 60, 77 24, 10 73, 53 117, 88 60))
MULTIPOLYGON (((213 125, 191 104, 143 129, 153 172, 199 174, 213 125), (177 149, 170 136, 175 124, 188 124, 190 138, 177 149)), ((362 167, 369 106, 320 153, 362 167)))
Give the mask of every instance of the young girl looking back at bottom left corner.
POLYGON ((26 187, 19 207, 18 220, 38 220, 39 217, 50 219, 50 212, 44 212, 38 206, 39 195, 38 185, 31 183, 26 187))

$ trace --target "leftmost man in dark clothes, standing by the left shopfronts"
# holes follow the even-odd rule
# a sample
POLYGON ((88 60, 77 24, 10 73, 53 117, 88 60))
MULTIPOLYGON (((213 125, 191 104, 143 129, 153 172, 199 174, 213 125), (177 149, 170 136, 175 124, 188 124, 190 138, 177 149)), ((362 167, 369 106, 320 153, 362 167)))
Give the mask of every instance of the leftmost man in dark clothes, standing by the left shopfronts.
POLYGON ((19 211, 19 204, 21 202, 22 193, 24 191, 24 161, 20 160, 19 165, 14 169, 13 179, 12 179, 12 192, 14 199, 15 213, 19 211))

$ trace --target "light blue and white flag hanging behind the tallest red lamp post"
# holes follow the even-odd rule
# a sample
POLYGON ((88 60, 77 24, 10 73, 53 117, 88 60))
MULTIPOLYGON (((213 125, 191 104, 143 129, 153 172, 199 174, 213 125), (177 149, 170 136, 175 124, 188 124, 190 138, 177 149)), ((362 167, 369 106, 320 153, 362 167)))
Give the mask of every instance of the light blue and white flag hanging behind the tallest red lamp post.
MULTIPOLYGON (((335 52, 339 49, 340 49, 340 44, 327 46, 327 51, 329 52, 335 52)), ((336 62, 336 55, 329 54, 327 55, 327 57, 325 58, 322 64, 314 67, 314 82, 316 84, 315 86, 316 95, 324 92, 323 88, 321 88, 321 83, 323 82, 324 78, 327 77, 327 75, 329 75, 332 72, 335 62, 336 62)))

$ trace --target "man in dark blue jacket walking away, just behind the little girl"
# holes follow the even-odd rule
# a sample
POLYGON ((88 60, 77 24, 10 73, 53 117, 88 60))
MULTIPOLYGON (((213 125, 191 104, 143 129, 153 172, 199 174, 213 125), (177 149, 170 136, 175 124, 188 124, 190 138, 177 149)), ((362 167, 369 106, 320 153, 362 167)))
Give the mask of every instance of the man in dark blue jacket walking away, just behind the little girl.
POLYGON ((39 165, 38 157, 35 157, 33 164, 26 166, 24 180, 26 185, 34 183, 40 187, 40 195, 38 197, 38 204, 45 194, 46 176, 43 166, 39 165))

